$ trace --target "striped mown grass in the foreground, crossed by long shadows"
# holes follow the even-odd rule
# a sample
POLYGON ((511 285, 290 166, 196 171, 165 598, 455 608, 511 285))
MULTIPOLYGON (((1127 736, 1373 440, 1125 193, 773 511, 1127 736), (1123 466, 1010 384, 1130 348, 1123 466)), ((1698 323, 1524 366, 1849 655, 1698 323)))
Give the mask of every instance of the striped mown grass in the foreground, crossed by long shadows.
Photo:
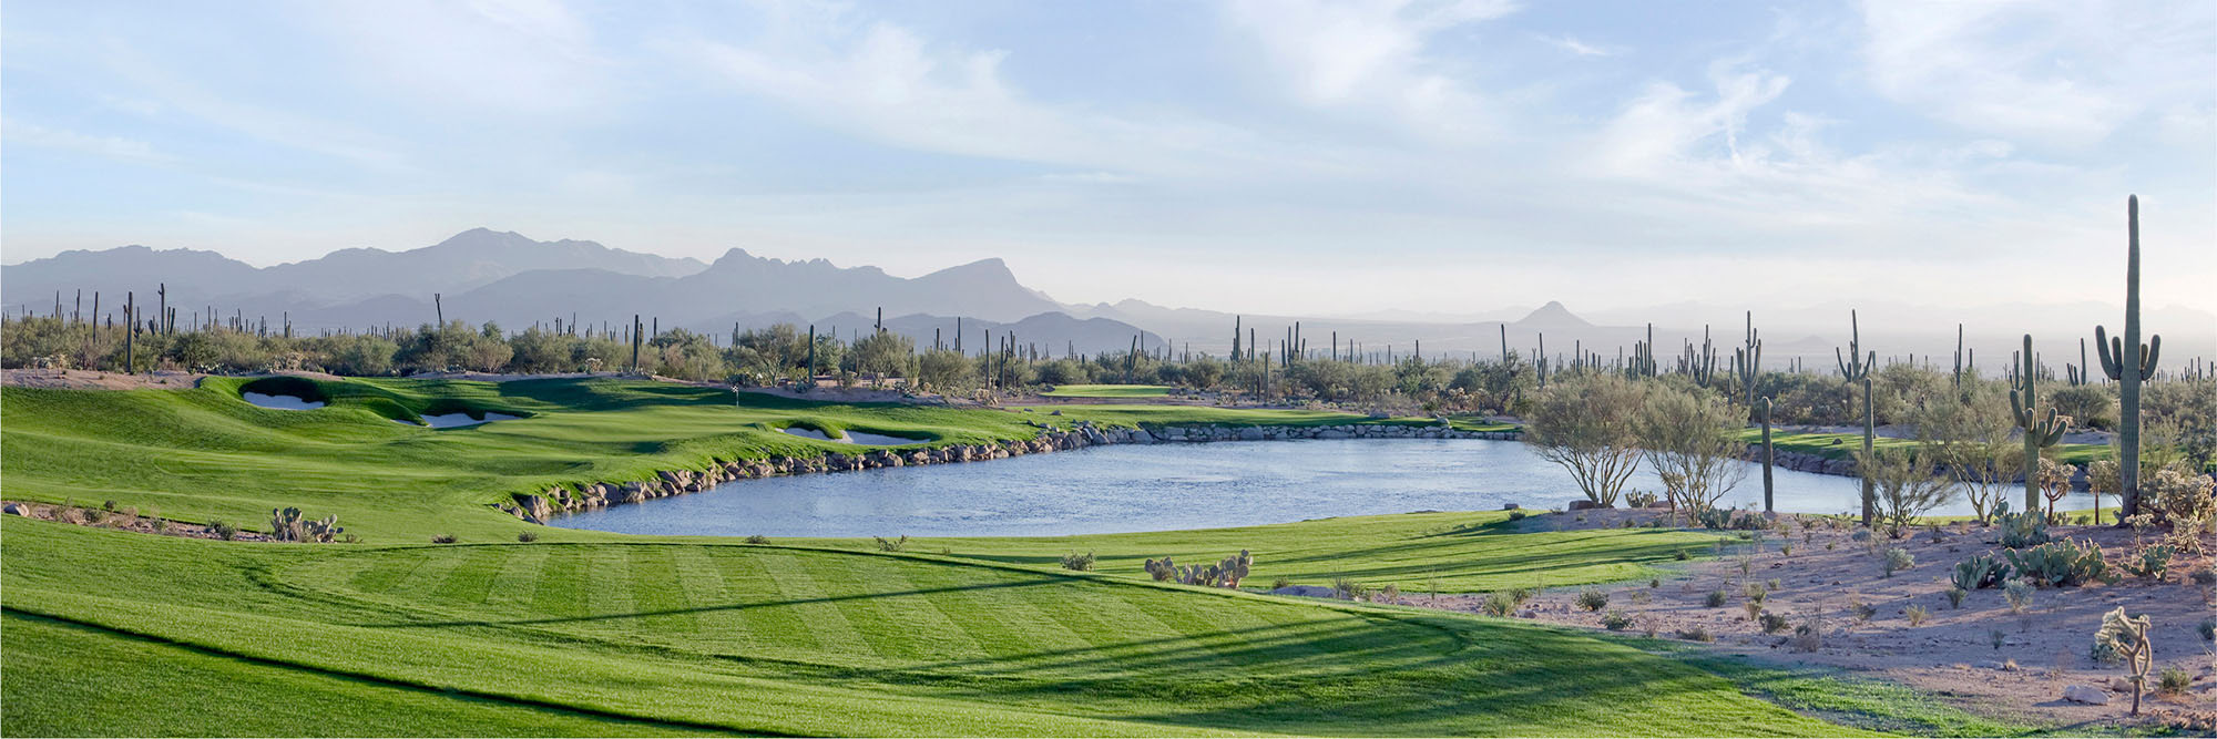
MULTIPOLYGON (((1840 732, 1674 659, 1465 615, 858 551, 0 527, 9 611, 519 708, 803 735, 1840 732)), ((9 650, 11 681, 71 668, 9 650)))

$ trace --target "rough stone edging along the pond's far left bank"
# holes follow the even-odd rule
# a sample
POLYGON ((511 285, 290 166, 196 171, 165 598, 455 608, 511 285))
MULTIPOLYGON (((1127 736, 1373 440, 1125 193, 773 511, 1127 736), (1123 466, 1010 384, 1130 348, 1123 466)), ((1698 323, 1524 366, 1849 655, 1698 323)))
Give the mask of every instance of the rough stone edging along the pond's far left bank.
POLYGON ((1035 438, 1011 438, 982 445, 947 445, 936 449, 873 449, 860 454, 827 451, 823 456, 772 456, 763 460, 729 460, 707 469, 665 469, 652 480, 556 485, 541 493, 514 493, 499 509, 545 522, 554 513, 588 511, 619 502, 645 502, 698 493, 732 480, 798 476, 816 471, 854 471, 876 467, 918 467, 1002 460, 1024 454, 1084 449, 1100 445, 1164 445, 1222 440, 1293 440, 1293 438, 1494 438, 1516 440, 1519 431, 1457 431, 1443 425, 1330 425, 1330 427, 1140 427, 1104 429, 1080 420, 1071 429, 1042 429, 1035 438))

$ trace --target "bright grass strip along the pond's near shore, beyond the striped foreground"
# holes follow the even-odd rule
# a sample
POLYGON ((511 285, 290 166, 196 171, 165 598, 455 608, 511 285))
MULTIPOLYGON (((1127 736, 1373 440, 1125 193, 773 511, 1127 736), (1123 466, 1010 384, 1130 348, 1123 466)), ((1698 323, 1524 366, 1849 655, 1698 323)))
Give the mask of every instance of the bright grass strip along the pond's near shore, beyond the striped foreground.
MULTIPOLYGON (((1534 531, 1505 511, 1324 518, 1295 524, 1097 533, 1060 538, 924 538, 918 551, 1060 566, 1064 553, 1095 553, 1095 571, 1146 580, 1142 564, 1168 555, 1208 564, 1248 549, 1248 586, 1277 577, 1328 586, 1352 577, 1403 593, 1479 593, 1528 586, 1647 580, 1667 575, 1676 553, 1703 555, 1714 533, 1674 529, 1534 531)), ((858 547, 851 540, 809 544, 858 547)))

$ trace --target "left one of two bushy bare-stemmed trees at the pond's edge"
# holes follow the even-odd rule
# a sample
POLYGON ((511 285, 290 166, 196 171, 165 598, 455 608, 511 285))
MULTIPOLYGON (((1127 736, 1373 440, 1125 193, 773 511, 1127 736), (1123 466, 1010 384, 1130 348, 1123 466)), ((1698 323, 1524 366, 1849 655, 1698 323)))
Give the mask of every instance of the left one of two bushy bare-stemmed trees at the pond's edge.
POLYGON ((1598 507, 1616 498, 1641 467, 1638 423, 1645 389, 1616 374, 1567 376, 1532 403, 1525 423, 1539 456, 1563 465, 1579 491, 1598 507))

